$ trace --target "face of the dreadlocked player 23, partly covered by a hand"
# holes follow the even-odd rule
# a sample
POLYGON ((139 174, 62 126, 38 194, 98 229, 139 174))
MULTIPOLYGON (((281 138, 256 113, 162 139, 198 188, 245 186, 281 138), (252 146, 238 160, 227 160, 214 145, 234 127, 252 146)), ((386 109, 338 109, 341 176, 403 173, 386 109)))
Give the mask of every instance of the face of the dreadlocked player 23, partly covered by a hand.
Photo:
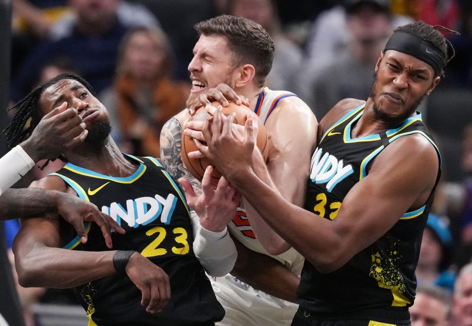
POLYGON ((67 108, 75 108, 89 130, 86 142, 101 141, 110 133, 110 115, 103 104, 80 82, 61 79, 43 91, 39 105, 43 115, 67 102, 67 108))

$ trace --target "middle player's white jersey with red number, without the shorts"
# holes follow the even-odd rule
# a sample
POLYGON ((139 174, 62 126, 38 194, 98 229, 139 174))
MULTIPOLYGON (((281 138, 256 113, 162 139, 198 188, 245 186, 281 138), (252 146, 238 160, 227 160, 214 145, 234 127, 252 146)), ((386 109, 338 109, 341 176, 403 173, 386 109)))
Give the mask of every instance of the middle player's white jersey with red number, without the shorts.
MULTIPOLYGON (((268 88, 264 88, 258 97, 254 112, 262 121, 264 121, 264 124, 266 124, 267 118, 277 107, 279 101, 282 98, 288 96, 296 95, 284 90, 270 90, 268 88)), ((285 267, 289 268, 295 275, 300 276, 304 262, 303 256, 301 256, 294 248, 291 248, 290 250, 277 256, 269 255, 266 249, 264 249, 262 246, 261 242, 259 242, 259 240, 256 238, 256 235, 254 234, 251 224, 249 223, 249 220, 246 216, 247 215, 244 209, 237 209, 233 221, 228 224, 228 229, 230 230, 231 234, 247 248, 255 252, 273 257, 280 263, 284 264, 285 267)))

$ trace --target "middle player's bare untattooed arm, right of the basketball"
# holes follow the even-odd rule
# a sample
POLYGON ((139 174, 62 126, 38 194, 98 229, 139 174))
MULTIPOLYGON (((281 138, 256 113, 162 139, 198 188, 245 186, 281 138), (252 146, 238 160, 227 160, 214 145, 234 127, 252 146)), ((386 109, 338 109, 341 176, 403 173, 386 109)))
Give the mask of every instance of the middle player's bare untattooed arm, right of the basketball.
MULTIPOLYGON (((316 144, 318 123, 308 106, 297 97, 283 99, 266 122, 270 136, 268 174, 259 177, 296 206, 303 206, 310 157, 316 144)), ((259 241, 271 255, 291 245, 277 235, 244 197, 244 208, 259 241)))

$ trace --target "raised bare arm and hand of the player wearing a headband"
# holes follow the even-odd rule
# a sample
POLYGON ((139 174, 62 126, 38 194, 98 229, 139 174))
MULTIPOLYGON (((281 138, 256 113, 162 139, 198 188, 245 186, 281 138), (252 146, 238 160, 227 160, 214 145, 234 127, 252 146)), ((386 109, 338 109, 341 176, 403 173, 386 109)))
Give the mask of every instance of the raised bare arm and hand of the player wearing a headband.
POLYGON ((438 176, 438 155, 429 141, 417 134, 402 137, 373 160, 369 174, 349 191, 337 217, 327 220, 289 203, 254 173, 251 123, 240 142, 231 135, 231 125, 221 129, 218 116, 211 125, 206 123, 208 148, 200 145, 199 150, 268 225, 321 272, 342 267, 382 237, 403 213, 423 206, 438 176))

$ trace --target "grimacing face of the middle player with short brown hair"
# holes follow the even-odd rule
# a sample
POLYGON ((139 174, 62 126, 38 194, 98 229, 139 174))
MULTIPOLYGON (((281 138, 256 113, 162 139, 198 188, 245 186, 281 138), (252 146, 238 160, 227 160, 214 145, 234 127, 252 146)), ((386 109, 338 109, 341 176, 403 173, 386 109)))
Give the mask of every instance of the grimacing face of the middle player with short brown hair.
POLYGON ((189 97, 198 98, 202 92, 220 83, 234 89, 236 68, 232 66, 232 59, 233 53, 225 37, 202 34, 193 48, 193 59, 188 65, 192 81, 189 97))

